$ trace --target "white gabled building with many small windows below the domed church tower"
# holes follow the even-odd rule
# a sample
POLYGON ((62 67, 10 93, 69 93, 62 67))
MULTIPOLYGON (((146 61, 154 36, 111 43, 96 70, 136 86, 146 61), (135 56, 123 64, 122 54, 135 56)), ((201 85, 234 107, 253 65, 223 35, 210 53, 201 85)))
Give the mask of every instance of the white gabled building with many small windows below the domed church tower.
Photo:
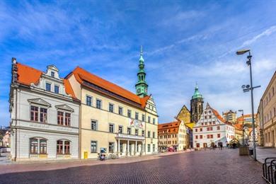
POLYGON ((193 146, 195 148, 212 145, 226 146, 235 136, 235 129, 231 123, 226 122, 217 110, 207 106, 203 110, 200 120, 192 128, 193 146))

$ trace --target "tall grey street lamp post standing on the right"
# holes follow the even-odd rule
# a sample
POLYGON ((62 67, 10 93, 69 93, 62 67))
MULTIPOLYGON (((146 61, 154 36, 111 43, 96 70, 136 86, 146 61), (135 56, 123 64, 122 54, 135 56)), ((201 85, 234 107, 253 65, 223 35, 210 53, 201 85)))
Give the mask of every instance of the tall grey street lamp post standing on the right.
POLYGON ((251 58, 252 55, 250 53, 250 50, 238 50, 236 52, 237 55, 245 54, 248 52, 247 56, 247 62, 246 64, 249 66, 250 69, 250 85, 243 85, 241 86, 243 88, 243 92, 248 92, 251 91, 251 110, 252 110, 252 128, 253 128, 253 157, 254 160, 256 161, 256 143, 255 143, 255 120, 254 120, 254 104, 253 104, 253 89, 254 88, 259 88, 260 86, 255 86, 253 87, 253 81, 252 81, 252 69, 251 69, 251 58))

